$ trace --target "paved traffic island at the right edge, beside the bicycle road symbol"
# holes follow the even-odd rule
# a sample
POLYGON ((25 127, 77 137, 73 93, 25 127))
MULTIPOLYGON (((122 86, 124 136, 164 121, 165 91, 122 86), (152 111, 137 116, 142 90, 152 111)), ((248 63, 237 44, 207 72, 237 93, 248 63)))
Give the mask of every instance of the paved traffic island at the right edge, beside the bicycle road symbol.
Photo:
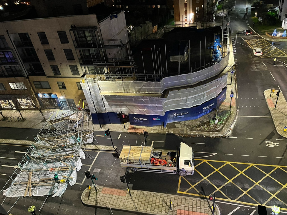
POLYGON ((278 90, 275 90, 274 93, 271 93, 271 89, 264 91, 264 96, 268 105, 268 108, 270 110, 276 131, 278 134, 280 134, 283 137, 287 138, 287 133, 284 132, 284 126, 287 126, 287 102, 285 97, 283 96, 283 93, 281 92, 279 94, 278 102, 275 108, 277 95, 276 92, 278 90))

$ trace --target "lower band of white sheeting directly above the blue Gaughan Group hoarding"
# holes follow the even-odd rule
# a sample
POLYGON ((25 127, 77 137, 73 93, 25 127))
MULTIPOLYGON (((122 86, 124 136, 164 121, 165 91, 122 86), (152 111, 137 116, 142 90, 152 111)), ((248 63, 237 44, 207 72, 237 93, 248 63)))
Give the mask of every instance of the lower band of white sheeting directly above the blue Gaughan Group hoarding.
POLYGON ((190 108, 215 98, 226 86, 227 75, 193 88, 172 90, 166 99, 145 96, 103 96, 107 112, 164 115, 166 111, 190 108))

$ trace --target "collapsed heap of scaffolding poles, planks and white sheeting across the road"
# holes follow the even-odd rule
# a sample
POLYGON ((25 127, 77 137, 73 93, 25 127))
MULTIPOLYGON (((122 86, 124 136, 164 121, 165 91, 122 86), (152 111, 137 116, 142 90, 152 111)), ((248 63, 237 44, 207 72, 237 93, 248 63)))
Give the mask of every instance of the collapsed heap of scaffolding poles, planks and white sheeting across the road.
POLYGON ((81 147, 91 144, 94 138, 91 113, 88 107, 77 107, 76 110, 58 111, 53 119, 50 118, 2 188, 4 201, 7 197, 61 196, 68 183, 71 186, 76 183, 81 159, 85 159, 81 147), (55 173, 58 183, 54 180, 55 173), (9 187, 5 189, 7 185, 9 187))

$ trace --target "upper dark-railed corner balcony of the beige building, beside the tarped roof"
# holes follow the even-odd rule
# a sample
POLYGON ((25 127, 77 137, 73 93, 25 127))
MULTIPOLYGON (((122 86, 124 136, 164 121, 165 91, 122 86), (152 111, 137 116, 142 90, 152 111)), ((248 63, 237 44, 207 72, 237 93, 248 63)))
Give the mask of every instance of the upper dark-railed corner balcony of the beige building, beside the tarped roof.
POLYGON ((74 40, 75 48, 122 48, 125 44, 122 43, 121 39, 113 39, 113 40, 74 40))

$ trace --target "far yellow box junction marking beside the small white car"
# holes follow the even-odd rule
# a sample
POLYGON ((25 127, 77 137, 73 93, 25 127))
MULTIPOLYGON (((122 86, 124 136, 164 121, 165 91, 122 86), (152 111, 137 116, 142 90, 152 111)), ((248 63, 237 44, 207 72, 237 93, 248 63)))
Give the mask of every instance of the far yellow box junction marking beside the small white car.
POLYGON ((271 45, 269 42, 267 42, 265 39, 253 39, 253 40, 245 40, 250 47, 253 49, 255 48, 261 48, 262 50, 262 58, 264 57, 286 57, 287 54, 280 49, 276 48, 274 45, 271 45))

